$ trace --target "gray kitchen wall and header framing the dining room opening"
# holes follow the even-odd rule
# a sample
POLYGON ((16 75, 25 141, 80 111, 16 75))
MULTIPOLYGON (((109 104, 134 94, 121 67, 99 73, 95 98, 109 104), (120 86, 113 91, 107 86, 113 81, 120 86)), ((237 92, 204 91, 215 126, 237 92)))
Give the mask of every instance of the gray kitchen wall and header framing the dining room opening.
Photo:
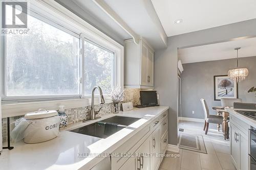
POLYGON ((168 37, 168 46, 155 52, 154 85, 160 95, 160 105, 169 106, 168 141, 177 145, 177 61, 178 48, 233 38, 255 36, 256 19, 232 23, 221 27, 168 37))

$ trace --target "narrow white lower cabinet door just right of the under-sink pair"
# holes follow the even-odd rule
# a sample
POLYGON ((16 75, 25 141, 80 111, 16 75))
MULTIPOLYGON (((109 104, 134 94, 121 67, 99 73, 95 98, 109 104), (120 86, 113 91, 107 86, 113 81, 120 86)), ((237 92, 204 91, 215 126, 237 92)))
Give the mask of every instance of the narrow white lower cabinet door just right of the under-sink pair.
POLYGON ((156 170, 160 164, 160 140, 159 140, 159 127, 152 133, 152 170, 156 170))

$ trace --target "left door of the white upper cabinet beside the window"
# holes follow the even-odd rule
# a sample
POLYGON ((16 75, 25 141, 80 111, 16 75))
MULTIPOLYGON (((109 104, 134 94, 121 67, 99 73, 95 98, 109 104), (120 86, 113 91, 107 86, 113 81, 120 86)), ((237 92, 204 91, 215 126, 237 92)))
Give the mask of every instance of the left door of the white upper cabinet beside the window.
POLYGON ((147 75, 147 45, 141 41, 141 68, 140 68, 140 83, 141 85, 147 86, 148 75, 147 75))

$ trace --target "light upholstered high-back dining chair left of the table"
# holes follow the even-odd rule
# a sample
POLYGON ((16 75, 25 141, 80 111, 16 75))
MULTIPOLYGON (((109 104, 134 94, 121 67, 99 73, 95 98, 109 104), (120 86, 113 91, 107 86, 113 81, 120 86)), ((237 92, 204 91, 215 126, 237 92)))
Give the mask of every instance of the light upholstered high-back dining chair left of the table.
POLYGON ((204 131, 205 131, 205 134, 207 135, 208 129, 209 129, 209 123, 220 125, 223 122, 223 117, 221 115, 210 114, 209 108, 205 99, 201 99, 201 103, 204 110, 204 131))

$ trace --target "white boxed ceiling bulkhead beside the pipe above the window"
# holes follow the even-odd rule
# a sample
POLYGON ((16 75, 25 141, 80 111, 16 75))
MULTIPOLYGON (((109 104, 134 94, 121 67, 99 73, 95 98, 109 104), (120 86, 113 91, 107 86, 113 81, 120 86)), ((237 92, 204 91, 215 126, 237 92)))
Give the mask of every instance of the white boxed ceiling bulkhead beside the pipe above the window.
POLYGON ((167 46, 167 36, 151 1, 102 1, 104 1, 137 35, 145 38, 155 50, 167 46))

